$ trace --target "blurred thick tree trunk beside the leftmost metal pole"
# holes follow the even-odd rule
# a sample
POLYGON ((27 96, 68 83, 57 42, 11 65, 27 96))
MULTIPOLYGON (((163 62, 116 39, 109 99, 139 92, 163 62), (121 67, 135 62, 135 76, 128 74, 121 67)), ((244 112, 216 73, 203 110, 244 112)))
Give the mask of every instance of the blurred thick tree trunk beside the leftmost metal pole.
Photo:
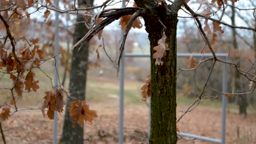
MULTIPOLYGON (((91 0, 79 0, 78 5, 87 5, 91 7, 93 1, 91 0)), ((84 17, 78 15, 77 22, 84 21, 84 17)), ((88 28, 84 23, 77 23, 75 25, 75 31, 73 35, 73 44, 77 43, 84 35, 88 32, 88 28)), ((69 91, 71 92, 71 97, 85 99, 85 86, 86 86, 86 76, 88 69, 88 53, 89 53, 89 43, 86 42, 83 47, 78 50, 75 49, 72 53, 71 71, 70 71, 70 82, 69 91)), ((72 128, 72 122, 69 119, 69 110, 67 109, 70 101, 73 99, 67 98, 66 111, 65 111, 65 121, 63 124, 62 136, 60 144, 84 143, 83 139, 83 127, 75 124, 72 128)))

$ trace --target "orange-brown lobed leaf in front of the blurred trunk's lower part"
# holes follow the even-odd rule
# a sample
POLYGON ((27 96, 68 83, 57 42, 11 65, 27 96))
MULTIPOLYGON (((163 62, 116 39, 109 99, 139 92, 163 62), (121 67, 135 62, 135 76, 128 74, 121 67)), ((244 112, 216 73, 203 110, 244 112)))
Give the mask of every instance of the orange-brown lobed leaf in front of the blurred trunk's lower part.
POLYGON ((84 121, 92 124, 94 118, 98 117, 96 111, 89 109, 89 105, 86 104, 86 101, 71 101, 70 105, 71 106, 69 106, 68 109, 70 112, 69 116, 73 121, 73 127, 75 123, 78 123, 82 127, 84 121))

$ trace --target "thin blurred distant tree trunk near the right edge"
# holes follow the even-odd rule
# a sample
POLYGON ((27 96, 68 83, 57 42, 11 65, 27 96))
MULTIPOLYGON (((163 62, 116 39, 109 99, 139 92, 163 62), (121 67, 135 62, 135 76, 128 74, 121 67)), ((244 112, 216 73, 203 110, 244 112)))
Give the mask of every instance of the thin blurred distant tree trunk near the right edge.
MULTIPOLYGON (((236 11, 235 11, 235 3, 232 2, 232 6, 231 9, 232 9, 232 15, 231 15, 231 22, 232 22, 232 26, 235 26, 236 23, 235 23, 235 14, 236 14, 236 11)), ((233 44, 233 48, 238 52, 238 44, 237 44, 237 40, 236 40, 236 29, 235 28, 232 28, 232 44, 233 44)), ((237 67, 240 68, 241 64, 240 64, 240 57, 239 56, 236 56, 235 57, 235 60, 236 60, 236 64, 237 64, 237 67)), ((238 73, 238 71, 235 71, 235 89, 236 89, 236 92, 237 93, 240 93, 241 92, 241 81, 240 81, 240 74, 238 73)), ((247 99, 246 99, 246 95, 237 95, 237 104, 239 106, 239 113, 242 115, 247 115, 247 99)))

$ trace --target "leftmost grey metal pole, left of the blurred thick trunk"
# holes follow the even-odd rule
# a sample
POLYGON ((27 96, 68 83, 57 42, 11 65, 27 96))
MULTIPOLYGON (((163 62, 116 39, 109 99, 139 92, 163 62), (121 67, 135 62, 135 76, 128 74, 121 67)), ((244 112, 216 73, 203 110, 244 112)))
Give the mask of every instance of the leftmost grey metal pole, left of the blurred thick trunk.
MULTIPOLYGON (((55 1, 55 7, 59 8, 59 0, 55 1)), ((55 37, 54 37, 54 53, 55 56, 59 54, 59 13, 55 11, 55 37)), ((56 65, 55 65, 55 73, 54 73, 54 84, 55 86, 59 85, 59 78, 57 74, 57 70, 59 69, 59 57, 56 57, 56 65)), ((58 122, 58 113, 54 111, 54 129, 53 129, 53 144, 57 144, 57 122, 58 122)))

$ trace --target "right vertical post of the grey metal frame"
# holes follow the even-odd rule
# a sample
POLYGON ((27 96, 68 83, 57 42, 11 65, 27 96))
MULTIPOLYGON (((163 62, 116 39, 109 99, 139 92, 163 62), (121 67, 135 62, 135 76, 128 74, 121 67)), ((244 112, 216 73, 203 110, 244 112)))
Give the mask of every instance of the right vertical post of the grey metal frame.
MULTIPOLYGON (((225 56, 225 61, 228 61, 228 56, 225 56)), ((222 81, 222 92, 227 92, 228 87, 228 65, 223 64, 223 81, 222 81)), ((222 95, 222 144, 225 144, 226 136, 226 98, 222 95)))

